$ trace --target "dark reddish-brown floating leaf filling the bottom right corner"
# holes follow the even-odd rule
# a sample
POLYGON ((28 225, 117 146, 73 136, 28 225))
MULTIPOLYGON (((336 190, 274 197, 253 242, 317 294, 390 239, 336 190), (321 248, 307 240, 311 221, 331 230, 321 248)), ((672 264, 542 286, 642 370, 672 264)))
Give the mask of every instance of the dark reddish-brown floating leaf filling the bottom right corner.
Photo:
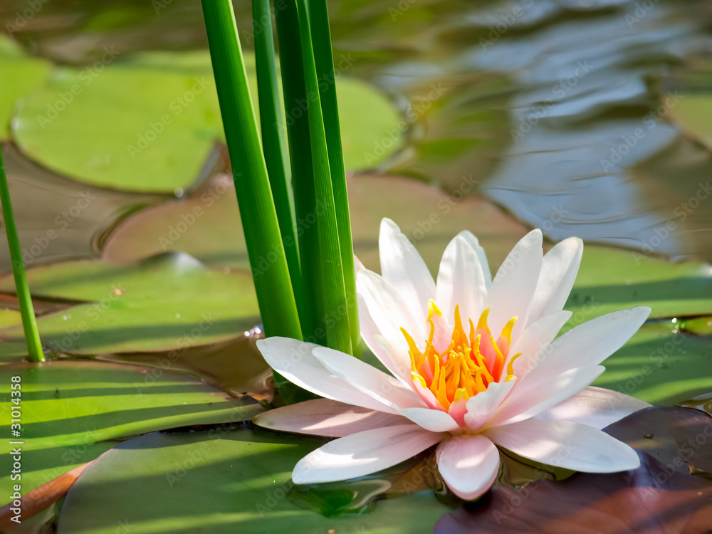
POLYGON ((712 525, 712 483, 671 470, 639 451, 622 473, 496 487, 443 515, 435 534, 703 534, 712 525))

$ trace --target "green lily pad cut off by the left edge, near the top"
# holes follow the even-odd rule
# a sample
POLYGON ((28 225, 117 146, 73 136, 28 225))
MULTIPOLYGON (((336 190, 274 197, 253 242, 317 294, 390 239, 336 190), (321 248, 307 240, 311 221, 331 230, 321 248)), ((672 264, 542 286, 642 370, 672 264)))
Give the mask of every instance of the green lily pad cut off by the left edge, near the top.
POLYGON ((24 53, 11 39, 0 35, 0 141, 10 135, 10 117, 15 101, 29 90, 41 85, 52 64, 24 53))

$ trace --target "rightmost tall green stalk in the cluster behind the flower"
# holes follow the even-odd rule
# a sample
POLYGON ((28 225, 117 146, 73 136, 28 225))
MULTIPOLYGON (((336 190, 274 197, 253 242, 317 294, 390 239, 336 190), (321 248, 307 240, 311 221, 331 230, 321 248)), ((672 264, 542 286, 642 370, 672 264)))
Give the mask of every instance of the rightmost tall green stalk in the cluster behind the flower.
POLYGON ((356 298, 356 271, 354 268, 354 247, 351 236, 351 219, 349 216, 349 199, 346 190, 346 172, 344 168, 344 153, 341 144, 341 126, 339 121, 339 106, 336 96, 336 73, 334 72, 334 56, 331 46, 331 31, 329 29, 329 14, 326 0, 309 0, 309 22, 314 48, 314 61, 317 79, 319 80, 319 95, 324 118, 326 144, 329 152, 331 182, 334 190, 334 205, 339 228, 339 244, 341 246, 341 262, 344 271, 346 287, 346 302, 351 330, 351 343, 354 354, 358 355, 361 333, 358 323, 358 308, 356 298))

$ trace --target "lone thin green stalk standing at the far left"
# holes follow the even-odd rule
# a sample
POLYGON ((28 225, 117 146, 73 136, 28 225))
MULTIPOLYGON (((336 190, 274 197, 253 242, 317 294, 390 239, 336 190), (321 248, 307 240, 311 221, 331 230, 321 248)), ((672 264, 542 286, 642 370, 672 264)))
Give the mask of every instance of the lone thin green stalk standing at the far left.
POLYGON ((32 297, 30 288, 27 285, 25 276, 25 266, 22 263, 22 251, 20 249, 20 240, 17 236, 17 227, 12 214, 12 204, 10 203, 10 189, 7 184, 5 175, 5 164, 2 159, 2 150, 0 147, 0 204, 2 205, 2 213, 5 220, 5 232, 7 234, 7 244, 10 249, 10 259, 12 261, 12 274, 15 277, 15 290, 17 292, 17 300, 20 305, 20 315, 22 316, 22 328, 25 331, 25 342, 27 343, 27 352, 30 355, 32 362, 43 362, 45 360, 44 352, 42 352, 42 342, 40 334, 37 330, 37 320, 35 318, 35 310, 32 307, 32 297))

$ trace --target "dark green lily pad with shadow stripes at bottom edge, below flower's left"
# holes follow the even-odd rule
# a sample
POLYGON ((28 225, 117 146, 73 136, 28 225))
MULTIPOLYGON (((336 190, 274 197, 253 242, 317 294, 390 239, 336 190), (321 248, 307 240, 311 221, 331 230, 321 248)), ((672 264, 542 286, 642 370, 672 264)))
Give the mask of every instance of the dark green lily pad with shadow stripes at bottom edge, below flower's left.
POLYGON ((58 531, 112 534, 123 522, 132 534, 419 534, 431 532, 449 510, 432 491, 333 518, 295 506, 292 468, 321 443, 261 430, 126 441, 82 473, 67 495, 58 531))

